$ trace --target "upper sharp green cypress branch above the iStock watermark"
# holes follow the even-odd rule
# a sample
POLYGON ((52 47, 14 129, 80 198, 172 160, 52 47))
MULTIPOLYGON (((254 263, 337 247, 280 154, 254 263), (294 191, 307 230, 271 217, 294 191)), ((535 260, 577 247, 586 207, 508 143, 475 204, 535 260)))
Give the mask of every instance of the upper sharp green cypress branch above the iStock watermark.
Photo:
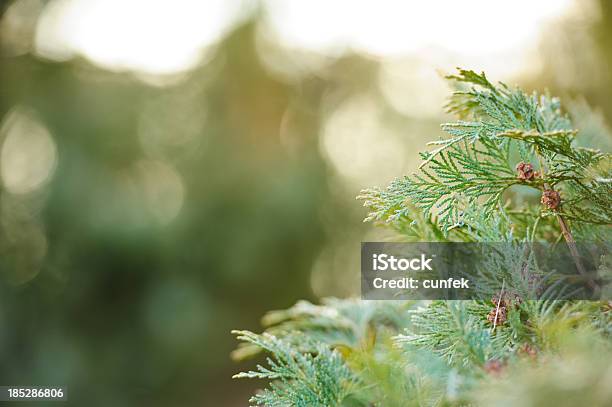
MULTIPOLYGON (((459 70, 448 78, 471 85, 454 92, 447 105, 449 112, 469 120, 442 125, 450 137, 429 143, 436 148, 421 153, 419 173, 396 179, 384 190, 362 191, 358 198, 371 209, 365 221, 414 222, 416 207, 448 234, 465 225, 463 214, 471 206, 480 206, 487 217, 503 211, 502 196, 512 185, 563 184, 568 218, 610 223, 611 166, 601 171, 610 154, 574 146, 577 132, 558 99, 494 85, 484 73, 459 70), (516 152, 526 162, 543 159, 546 179, 519 179, 512 158, 516 152), (599 169, 597 176, 593 168, 599 169)), ((546 208, 541 212, 545 216, 546 208)))

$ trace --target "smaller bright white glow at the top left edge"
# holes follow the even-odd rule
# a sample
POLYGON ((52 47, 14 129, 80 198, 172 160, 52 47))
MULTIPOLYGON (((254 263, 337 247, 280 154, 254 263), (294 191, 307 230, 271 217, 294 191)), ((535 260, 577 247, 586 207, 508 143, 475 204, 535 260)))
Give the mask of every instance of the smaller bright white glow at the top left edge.
POLYGON ((83 55, 112 70, 175 74, 195 67, 235 23, 240 0, 61 0, 43 11, 36 51, 83 55))

